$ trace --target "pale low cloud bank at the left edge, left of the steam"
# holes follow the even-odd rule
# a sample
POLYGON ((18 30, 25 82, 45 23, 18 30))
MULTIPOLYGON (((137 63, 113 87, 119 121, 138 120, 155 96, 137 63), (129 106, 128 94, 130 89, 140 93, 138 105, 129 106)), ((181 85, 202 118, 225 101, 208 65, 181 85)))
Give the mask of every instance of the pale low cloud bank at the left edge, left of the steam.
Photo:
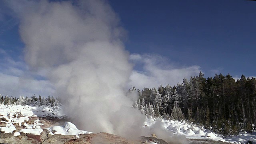
POLYGON ((15 61, 9 53, 0 49, 0 94, 14 97, 48 96, 54 93, 54 87, 48 80, 38 80, 23 61, 15 61))

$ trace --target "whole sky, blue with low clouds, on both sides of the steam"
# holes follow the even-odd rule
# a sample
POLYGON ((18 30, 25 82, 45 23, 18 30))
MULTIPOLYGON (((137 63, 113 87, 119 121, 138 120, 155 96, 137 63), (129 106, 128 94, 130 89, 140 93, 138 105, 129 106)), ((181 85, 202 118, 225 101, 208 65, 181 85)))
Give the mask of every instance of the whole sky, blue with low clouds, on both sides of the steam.
MULTIPOLYGON (((199 74, 199 71, 204 72, 206 77, 214 76, 215 73, 229 73, 235 78, 240 78, 242 74, 255 76, 256 2, 108 2, 119 16, 120 25, 127 31, 124 44, 134 62, 130 85, 141 82, 137 80, 139 77, 148 79, 138 85, 140 88, 167 83, 174 85, 181 82, 183 77, 199 74), (158 76, 160 74, 164 76, 158 76)), ((26 88, 17 86, 17 89, 22 90, 12 93, 16 95, 30 94, 36 82, 42 86, 51 85, 42 74, 30 72, 24 62, 24 43, 18 32, 20 21, 13 12, 15 8, 9 8, 3 2, 0 5, 0 72, 3 81, 9 82, 9 85, 6 84, 8 87, 13 85, 12 82, 17 84, 16 80, 7 79, 8 76, 14 76, 14 79, 20 79, 21 76, 24 79, 25 76, 32 81, 26 88)), ((54 91, 50 87, 47 87, 49 91, 54 91)), ((14 89, 6 88, 4 84, 0 88, 8 89, 4 93, 14 89)), ((44 88, 33 92, 43 91, 44 88)))

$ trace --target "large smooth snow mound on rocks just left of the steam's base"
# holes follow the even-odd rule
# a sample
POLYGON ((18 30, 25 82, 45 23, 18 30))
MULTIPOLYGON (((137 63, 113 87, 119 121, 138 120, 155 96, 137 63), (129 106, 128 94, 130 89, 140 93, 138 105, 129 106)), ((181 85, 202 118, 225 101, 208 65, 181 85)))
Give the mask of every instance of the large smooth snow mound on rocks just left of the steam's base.
POLYGON ((71 122, 65 122, 64 126, 52 126, 51 128, 47 128, 47 132, 49 134, 61 134, 61 135, 79 135, 79 134, 91 134, 92 132, 87 132, 85 130, 78 130, 76 125, 71 122))

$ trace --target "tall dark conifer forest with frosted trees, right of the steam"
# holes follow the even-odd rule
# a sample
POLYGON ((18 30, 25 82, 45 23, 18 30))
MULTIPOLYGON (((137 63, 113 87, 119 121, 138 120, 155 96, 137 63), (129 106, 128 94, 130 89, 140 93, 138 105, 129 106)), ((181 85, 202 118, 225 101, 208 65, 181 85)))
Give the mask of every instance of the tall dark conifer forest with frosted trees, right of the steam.
POLYGON ((256 79, 227 74, 184 78, 182 84, 158 88, 131 88, 138 92, 134 107, 151 117, 189 120, 221 134, 256 130, 256 79))

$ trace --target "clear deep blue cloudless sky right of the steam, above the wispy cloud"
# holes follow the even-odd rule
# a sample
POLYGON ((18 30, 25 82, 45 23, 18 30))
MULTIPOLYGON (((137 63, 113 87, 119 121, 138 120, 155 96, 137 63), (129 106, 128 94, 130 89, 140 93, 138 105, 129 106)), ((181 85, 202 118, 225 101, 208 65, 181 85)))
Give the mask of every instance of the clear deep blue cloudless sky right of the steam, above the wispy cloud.
POLYGON ((256 2, 110 0, 129 32, 132 53, 156 53, 179 65, 232 76, 255 75, 256 2))

